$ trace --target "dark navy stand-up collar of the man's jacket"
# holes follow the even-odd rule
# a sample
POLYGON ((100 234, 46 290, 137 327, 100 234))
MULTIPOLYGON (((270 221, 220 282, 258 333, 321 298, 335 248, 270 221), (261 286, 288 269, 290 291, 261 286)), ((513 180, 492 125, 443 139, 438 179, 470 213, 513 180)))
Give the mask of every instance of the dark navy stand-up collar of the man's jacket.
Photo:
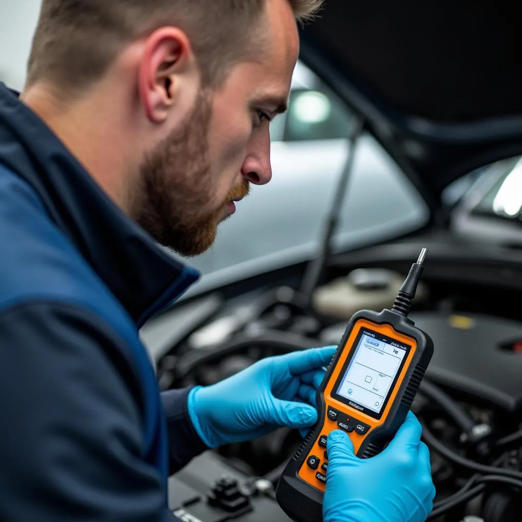
POLYGON ((0 163, 34 188, 138 328, 199 278, 129 219, 51 129, 1 83, 0 163))

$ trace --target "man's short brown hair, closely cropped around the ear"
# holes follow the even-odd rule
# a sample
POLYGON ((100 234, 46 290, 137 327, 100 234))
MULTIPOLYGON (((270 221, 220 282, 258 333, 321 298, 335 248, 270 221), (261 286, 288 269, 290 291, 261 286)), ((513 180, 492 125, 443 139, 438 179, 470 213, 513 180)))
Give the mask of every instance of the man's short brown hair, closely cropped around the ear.
MULTIPOLYGON (((324 0, 288 0, 298 22, 324 0)), ((216 86, 245 52, 266 0, 43 0, 29 57, 27 86, 50 81, 79 92, 106 72, 133 39, 162 26, 184 30, 204 85, 216 86), (241 54, 241 56, 240 56, 241 54)))

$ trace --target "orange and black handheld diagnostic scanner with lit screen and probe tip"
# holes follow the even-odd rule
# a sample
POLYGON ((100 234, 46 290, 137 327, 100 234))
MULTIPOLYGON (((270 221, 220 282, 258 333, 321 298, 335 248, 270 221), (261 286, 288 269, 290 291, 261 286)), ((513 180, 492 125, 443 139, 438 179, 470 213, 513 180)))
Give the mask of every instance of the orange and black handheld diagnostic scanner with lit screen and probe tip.
POLYGON ((408 318, 428 251, 423 248, 391 310, 355 313, 316 395, 318 421, 288 462, 277 501, 296 522, 322 520, 333 430, 347 432, 355 454, 380 453, 405 421, 433 355, 433 341, 408 318))

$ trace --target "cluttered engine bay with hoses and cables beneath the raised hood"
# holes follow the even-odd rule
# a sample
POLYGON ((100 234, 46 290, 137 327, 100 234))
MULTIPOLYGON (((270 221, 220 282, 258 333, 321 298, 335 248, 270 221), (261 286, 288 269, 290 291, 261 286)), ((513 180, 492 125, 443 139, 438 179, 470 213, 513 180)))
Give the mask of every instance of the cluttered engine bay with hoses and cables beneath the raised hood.
MULTIPOLYGON (((183 338, 159 360, 160 387, 209 385, 270 355, 337 345, 355 311, 380 311, 393 304, 407 265, 406 271, 398 269, 402 265, 392 258, 384 263, 374 257, 365 264, 357 263, 355 256, 350 269, 344 271, 341 262, 333 264, 310 299, 303 299, 299 288, 292 285, 300 278, 287 278, 284 284, 217 300, 206 318, 187 328, 183 338)), ((485 265, 483 270, 477 268, 484 274, 481 282, 469 284, 460 279, 457 284, 455 272, 446 271, 443 279, 427 263, 410 313, 435 345, 412 410, 423 424, 423 440, 431 452, 437 495, 429 520, 438 522, 518 520, 522 508, 519 290, 516 284, 491 284, 485 274, 492 270, 491 263, 485 265)), ((505 270, 504 266, 498 273, 505 270)), ((509 279, 513 281, 513 274, 509 279)), ((282 469, 301 442, 297 431, 279 429, 199 457, 172 478, 177 481, 172 486, 172 508, 181 519, 194 522, 288 520, 278 511, 274 491, 282 469), (202 481, 203 473, 196 480, 202 466, 217 466, 223 477, 208 475, 202 481), (232 477, 233 487, 227 485, 227 477, 232 477), (185 494, 191 480, 196 481, 191 485, 192 496, 185 494), (181 490, 176 489, 179 484, 181 490), (216 501, 216 491, 223 494, 227 488, 234 490, 232 504, 242 507, 216 501), (198 505, 206 506, 207 511, 198 505)))

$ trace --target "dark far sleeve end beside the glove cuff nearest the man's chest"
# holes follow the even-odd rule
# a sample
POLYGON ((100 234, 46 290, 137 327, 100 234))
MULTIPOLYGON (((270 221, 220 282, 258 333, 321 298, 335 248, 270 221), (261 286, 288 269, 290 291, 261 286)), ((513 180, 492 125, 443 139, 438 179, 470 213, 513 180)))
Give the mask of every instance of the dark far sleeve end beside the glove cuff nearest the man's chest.
POLYGON ((209 449, 196 432, 188 416, 187 398, 190 388, 169 390, 161 394, 170 447, 170 472, 175 473, 209 449))

